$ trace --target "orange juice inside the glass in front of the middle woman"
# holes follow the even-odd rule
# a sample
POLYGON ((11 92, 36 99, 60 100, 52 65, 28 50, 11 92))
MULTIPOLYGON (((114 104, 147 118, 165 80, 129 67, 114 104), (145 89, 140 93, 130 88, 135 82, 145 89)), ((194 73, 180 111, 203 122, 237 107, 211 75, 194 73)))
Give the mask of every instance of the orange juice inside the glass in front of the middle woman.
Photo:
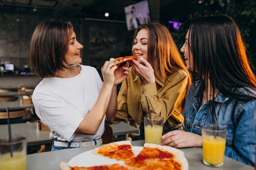
POLYGON ((163 126, 160 125, 147 125, 145 130, 145 143, 161 144, 163 126))

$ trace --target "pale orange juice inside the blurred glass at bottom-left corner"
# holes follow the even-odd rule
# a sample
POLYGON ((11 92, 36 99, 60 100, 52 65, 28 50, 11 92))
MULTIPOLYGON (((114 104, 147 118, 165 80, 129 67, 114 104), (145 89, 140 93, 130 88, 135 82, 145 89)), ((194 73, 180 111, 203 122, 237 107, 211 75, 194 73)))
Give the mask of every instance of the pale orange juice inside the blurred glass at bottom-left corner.
POLYGON ((21 152, 4 154, 0 159, 0 170, 26 170, 26 155, 21 152))

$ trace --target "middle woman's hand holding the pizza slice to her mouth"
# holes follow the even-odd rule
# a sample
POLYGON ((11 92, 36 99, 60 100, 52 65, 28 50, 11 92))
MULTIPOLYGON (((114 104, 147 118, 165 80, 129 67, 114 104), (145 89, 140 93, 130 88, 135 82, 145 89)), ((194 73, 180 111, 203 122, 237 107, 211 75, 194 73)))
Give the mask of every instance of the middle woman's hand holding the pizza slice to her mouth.
POLYGON ((155 75, 152 66, 142 57, 139 60, 132 60, 131 66, 136 75, 141 77, 146 84, 155 83, 155 75))

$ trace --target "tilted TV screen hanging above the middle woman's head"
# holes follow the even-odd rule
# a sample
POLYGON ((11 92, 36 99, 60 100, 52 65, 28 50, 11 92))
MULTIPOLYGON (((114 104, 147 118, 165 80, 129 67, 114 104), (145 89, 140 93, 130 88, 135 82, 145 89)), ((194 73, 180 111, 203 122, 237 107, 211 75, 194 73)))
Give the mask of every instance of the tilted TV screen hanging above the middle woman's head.
POLYGON ((148 0, 124 7, 128 30, 136 29, 140 24, 150 22, 148 0))

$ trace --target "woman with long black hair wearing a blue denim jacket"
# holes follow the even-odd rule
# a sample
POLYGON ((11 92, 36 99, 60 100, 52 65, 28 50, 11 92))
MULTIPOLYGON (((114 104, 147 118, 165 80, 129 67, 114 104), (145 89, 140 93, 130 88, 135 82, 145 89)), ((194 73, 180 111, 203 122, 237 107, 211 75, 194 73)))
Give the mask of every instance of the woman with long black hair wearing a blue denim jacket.
POLYGON ((227 126, 225 156, 254 166, 256 77, 238 26, 224 15, 195 19, 180 51, 200 76, 186 96, 185 131, 163 135, 162 145, 202 147, 202 126, 227 126))

